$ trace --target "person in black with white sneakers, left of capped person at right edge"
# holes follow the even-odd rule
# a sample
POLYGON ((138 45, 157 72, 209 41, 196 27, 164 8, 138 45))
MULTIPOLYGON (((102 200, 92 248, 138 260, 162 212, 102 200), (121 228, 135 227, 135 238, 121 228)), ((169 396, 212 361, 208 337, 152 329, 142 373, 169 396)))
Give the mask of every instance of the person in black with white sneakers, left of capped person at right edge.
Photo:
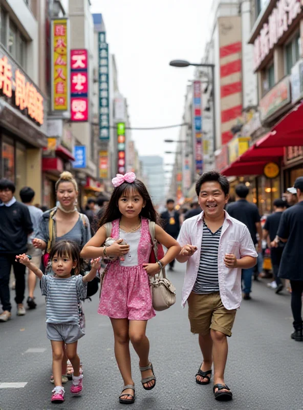
POLYGON ((270 258, 274 276, 274 280, 270 283, 270 286, 275 289, 278 294, 283 290, 283 283, 278 277, 278 272, 285 243, 280 241, 278 247, 276 248, 273 240, 277 235, 282 213, 286 210, 286 202, 283 199, 275 199, 273 202, 273 208, 274 212, 266 218, 263 227, 263 239, 268 241, 270 248, 270 258))

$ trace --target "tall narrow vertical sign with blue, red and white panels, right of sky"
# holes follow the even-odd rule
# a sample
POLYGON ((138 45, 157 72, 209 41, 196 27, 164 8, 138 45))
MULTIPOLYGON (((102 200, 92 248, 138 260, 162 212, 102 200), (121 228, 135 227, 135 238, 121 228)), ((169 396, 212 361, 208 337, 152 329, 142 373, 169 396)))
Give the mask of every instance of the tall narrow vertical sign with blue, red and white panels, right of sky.
POLYGON ((193 81, 193 130, 196 173, 203 171, 203 148, 202 148, 202 116, 201 116, 201 82, 193 81))

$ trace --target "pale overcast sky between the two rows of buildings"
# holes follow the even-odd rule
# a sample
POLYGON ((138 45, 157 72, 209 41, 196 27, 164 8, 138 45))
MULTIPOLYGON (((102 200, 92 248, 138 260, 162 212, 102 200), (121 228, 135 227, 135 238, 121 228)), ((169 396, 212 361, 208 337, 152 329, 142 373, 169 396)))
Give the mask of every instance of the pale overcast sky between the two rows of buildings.
MULTIPOLYGON (((127 98, 132 127, 182 122, 184 95, 194 68, 174 68, 172 59, 199 63, 209 38, 208 0, 91 0, 102 13, 110 52, 115 54, 120 92, 127 98)), ((132 131, 139 155, 174 151, 164 139, 179 129, 132 131)), ((165 155, 165 162, 172 162, 165 155)))

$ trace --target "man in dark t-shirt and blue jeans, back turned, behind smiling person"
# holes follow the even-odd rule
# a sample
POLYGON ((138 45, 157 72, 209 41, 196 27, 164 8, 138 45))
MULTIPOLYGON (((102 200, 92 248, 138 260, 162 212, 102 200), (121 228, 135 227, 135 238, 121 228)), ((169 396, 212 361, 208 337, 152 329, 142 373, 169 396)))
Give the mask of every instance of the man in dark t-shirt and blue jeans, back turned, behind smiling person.
MULTIPOLYGON (((249 194, 249 189, 248 187, 246 187, 246 185, 244 185, 244 183, 241 183, 236 186, 235 193, 236 201, 228 204, 226 210, 230 216, 239 220, 240 222, 243 222, 247 226, 253 243, 257 245, 256 249, 258 252, 258 265, 260 265, 258 269, 260 273, 260 271, 262 272, 263 263, 261 217, 259 215, 257 206, 254 203, 250 203, 247 201, 246 198, 249 194)), ((253 267, 249 269, 243 269, 242 271, 242 281, 244 284, 244 300, 251 299, 250 293, 253 271, 253 267)))

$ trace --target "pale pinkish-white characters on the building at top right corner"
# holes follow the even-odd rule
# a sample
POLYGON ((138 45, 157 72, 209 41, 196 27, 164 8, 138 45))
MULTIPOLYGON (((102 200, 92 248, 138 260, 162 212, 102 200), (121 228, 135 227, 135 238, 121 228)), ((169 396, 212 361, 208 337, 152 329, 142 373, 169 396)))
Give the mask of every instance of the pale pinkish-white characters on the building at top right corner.
POLYGON ((254 41, 254 69, 257 70, 262 61, 287 32, 302 11, 301 0, 279 0, 276 7, 264 23, 254 41))

